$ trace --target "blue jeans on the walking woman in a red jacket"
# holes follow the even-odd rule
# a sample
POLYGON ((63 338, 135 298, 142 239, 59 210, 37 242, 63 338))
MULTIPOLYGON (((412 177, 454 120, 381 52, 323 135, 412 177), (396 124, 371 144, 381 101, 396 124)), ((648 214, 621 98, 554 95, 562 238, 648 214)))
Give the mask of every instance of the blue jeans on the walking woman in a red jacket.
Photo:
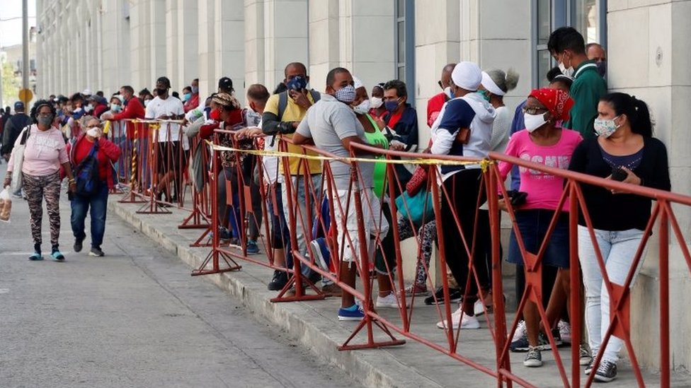
POLYGON ((105 233, 105 214, 108 206, 108 184, 101 182, 101 187, 93 196, 75 195, 70 204, 72 216, 69 221, 72 224, 72 233, 76 240, 84 240, 84 220, 86 212, 91 216, 91 247, 101 248, 103 234, 105 233), (89 210, 91 207, 91 211, 89 210))

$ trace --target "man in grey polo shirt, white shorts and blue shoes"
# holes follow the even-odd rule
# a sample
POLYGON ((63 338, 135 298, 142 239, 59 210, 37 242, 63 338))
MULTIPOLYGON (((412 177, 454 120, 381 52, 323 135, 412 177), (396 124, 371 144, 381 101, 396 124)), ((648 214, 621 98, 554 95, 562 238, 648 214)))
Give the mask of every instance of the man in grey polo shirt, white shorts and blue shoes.
MULTIPOLYGON (((293 136, 295 143, 314 143, 317 148, 339 157, 350 156, 350 143, 369 144, 367 136, 365 136, 365 129, 350 107, 355 101, 356 94, 350 71, 342 67, 331 69, 326 75, 326 93, 321 95, 321 100, 307 111, 307 115, 300 122, 295 136, 293 136)), ((367 158, 371 155, 360 153, 359 156, 367 158)), ((355 216, 354 197, 359 195, 362 198, 362 221, 368 235, 378 235, 383 240, 388 233, 389 223, 386 219, 378 219, 381 213, 379 201, 372 190, 374 187, 372 178, 374 163, 358 163, 358 170, 360 177, 362 177, 362 189, 353 189, 352 191, 349 190, 350 165, 338 160, 329 160, 328 163, 333 177, 333 208, 335 209, 333 217, 337 226, 336 233, 333 231, 332 233, 336 235, 339 249, 343 249, 341 281, 355 288, 355 274, 358 266, 355 265, 354 261, 360 256, 360 244, 370 245, 373 240, 360 241, 358 238, 358 217, 355 216), (371 206, 365 206, 365 204, 371 206), (347 214, 345 214, 346 211, 347 214), (349 238, 346 237, 346 230, 349 238)), ((360 270, 361 278, 366 278, 368 269, 360 268, 360 270)), ((382 285, 380 284, 380 286, 382 285)), ((397 303, 395 297, 394 302, 397 303)), ((370 301, 365 301, 365 303, 370 303, 370 301)), ((341 293, 341 308, 338 309, 338 319, 341 321, 359 321, 364 316, 361 307, 355 303, 353 295, 341 293)))

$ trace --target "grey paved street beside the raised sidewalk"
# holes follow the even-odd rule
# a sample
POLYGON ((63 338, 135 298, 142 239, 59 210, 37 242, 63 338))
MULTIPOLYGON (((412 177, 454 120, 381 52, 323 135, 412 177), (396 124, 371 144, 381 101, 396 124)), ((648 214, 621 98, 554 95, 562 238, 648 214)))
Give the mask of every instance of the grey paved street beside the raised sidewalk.
MULTIPOLYGON (((13 205, 0 223, 0 387, 358 386, 118 217, 106 257, 88 257, 88 240, 75 254, 64 199, 67 262, 28 261, 28 208, 13 205)), ((50 252, 46 216, 43 231, 50 252)))

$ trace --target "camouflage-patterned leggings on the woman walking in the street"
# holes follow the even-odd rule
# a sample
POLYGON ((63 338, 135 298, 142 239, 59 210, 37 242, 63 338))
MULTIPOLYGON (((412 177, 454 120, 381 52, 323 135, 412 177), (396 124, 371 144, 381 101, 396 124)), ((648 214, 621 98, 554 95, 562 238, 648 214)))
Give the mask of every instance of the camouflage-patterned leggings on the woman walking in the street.
POLYGON ((60 177, 55 174, 35 177, 23 174, 23 187, 29 203, 31 236, 34 244, 40 245, 41 222, 43 220, 43 199, 50 221, 50 245, 57 246, 60 237, 60 177))

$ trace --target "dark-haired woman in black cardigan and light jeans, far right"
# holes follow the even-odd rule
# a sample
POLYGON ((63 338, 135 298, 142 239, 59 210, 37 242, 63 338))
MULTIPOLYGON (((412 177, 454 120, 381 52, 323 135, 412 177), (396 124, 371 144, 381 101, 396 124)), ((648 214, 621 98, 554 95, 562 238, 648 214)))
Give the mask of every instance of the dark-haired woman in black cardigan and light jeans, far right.
MULTIPOLYGON (((670 191, 667 149, 653 137, 653 123, 645 102, 626 93, 605 95, 598 105, 595 132, 598 137, 586 139, 573 152, 569 170, 670 191)), ((623 286, 630 271, 634 271, 635 279, 641 269, 640 264, 632 268, 633 259, 651 216, 652 200, 589 184, 581 184, 581 190, 599 252, 603 253, 607 278, 623 286)), ((586 288, 588 341, 593 354, 605 347, 600 365, 593 361, 586 368, 586 374, 595 370, 595 381, 610 382, 617 377, 623 341, 612 335, 607 343, 602 343, 612 317, 610 295, 595 251, 581 211, 578 217, 578 258, 586 288)), ((633 287, 633 283, 629 287, 633 287)))

